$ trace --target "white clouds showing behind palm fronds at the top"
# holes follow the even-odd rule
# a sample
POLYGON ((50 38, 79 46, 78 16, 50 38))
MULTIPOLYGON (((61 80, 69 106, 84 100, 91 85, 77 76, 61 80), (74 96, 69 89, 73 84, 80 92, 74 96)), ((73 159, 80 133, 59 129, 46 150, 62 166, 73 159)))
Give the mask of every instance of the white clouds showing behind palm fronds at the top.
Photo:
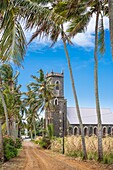
MULTIPOLYGON (((72 38, 72 42, 74 45, 77 45, 79 47, 83 48, 93 48, 94 47, 94 33, 95 33, 95 20, 96 20, 96 15, 94 14, 87 26, 87 29, 84 33, 78 33, 74 38, 72 38)), ((64 29, 66 30, 67 24, 64 25, 64 29)), ((104 17, 104 28, 109 29, 109 19, 108 17, 104 17)), ((25 35, 27 38, 27 42, 30 40, 32 34, 34 33, 35 29, 32 31, 25 31, 25 35)), ((34 50, 41 50, 45 47, 49 47, 52 44, 51 40, 47 37, 44 37, 43 39, 39 39, 37 37, 36 39, 33 40, 33 43, 29 46, 29 48, 34 51, 34 50)), ((60 48, 62 46, 61 38, 59 36, 58 42, 55 44, 55 48, 60 48)), ((29 50, 30 50, 29 49, 29 50)))

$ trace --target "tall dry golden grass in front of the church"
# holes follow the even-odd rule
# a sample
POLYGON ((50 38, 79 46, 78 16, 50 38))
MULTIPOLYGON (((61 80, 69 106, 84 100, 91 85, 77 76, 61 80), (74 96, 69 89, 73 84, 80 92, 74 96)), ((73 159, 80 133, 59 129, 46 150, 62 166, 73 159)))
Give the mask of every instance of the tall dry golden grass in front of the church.
MULTIPOLYGON (((89 160, 98 159, 98 139, 96 136, 85 137, 86 149, 89 160)), ((105 137, 102 139, 103 144, 103 161, 102 163, 113 163, 113 138, 105 137)), ((62 138, 55 138, 52 141, 51 149, 55 152, 62 153, 62 138)), ((73 157, 80 157, 82 159, 82 142, 81 136, 65 137, 65 154, 73 157)))

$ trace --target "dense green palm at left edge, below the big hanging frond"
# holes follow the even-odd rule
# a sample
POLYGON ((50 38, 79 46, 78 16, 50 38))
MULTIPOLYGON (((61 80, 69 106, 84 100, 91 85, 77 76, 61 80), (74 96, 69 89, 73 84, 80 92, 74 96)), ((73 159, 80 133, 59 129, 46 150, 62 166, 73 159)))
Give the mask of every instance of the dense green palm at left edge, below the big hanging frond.
POLYGON ((1 74, 1 86, 2 91, 0 93, 4 113, 6 117, 6 127, 7 127, 7 134, 15 136, 13 131, 16 130, 16 127, 12 127, 11 124, 14 126, 16 125, 16 119, 18 117, 20 107, 21 107, 21 93, 20 93, 20 85, 17 86, 17 78, 19 73, 17 72, 15 75, 13 74, 13 69, 10 65, 4 64, 0 67, 0 74, 1 74))

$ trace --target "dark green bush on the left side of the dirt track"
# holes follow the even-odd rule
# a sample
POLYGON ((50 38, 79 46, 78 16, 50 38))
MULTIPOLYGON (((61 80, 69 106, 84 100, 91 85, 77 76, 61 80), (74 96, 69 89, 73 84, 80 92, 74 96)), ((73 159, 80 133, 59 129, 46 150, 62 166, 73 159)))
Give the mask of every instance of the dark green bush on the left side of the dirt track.
POLYGON ((15 147, 15 141, 13 138, 9 136, 5 136, 3 138, 3 146, 4 146, 4 159, 5 161, 17 156, 18 150, 15 147))

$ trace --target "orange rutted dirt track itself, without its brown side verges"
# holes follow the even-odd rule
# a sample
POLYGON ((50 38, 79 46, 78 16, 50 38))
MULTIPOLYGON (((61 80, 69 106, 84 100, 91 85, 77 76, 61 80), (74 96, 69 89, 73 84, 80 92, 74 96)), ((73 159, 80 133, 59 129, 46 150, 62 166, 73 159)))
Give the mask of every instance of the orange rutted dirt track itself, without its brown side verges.
POLYGON ((27 157, 25 170, 89 170, 79 164, 74 165, 72 161, 67 161, 61 155, 56 156, 54 153, 37 149, 37 146, 31 142, 24 142, 23 146, 27 157))

